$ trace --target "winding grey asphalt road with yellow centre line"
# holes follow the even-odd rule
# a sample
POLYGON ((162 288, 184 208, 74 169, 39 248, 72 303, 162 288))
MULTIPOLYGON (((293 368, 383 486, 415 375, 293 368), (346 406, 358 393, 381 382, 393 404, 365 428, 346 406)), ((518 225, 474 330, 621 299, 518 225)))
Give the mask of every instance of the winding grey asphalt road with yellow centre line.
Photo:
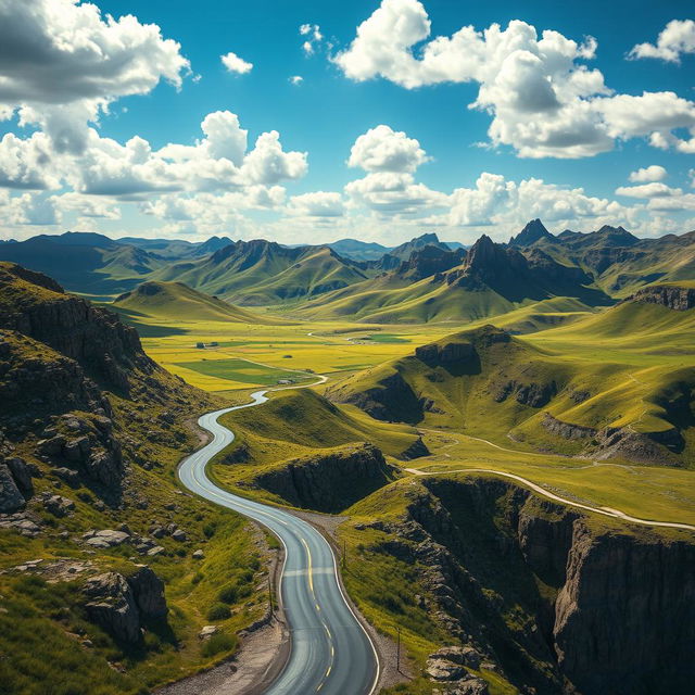
POLYGON ((181 463, 178 476, 191 492, 258 521, 285 545, 280 596, 291 650, 266 695, 370 695, 379 679, 377 652, 345 599, 336 556, 326 539, 303 519, 231 494, 205 475, 207 462, 235 439, 217 418, 265 403, 266 393, 256 391, 251 403, 203 415, 198 424, 213 439, 181 463))

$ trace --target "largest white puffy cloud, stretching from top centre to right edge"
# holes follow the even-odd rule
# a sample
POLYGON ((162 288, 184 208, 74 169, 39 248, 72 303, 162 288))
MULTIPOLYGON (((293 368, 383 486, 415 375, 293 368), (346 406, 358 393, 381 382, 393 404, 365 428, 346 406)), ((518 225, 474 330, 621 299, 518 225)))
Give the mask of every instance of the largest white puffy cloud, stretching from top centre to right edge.
POLYGON ((592 156, 635 137, 695 151, 695 137, 673 134, 695 129, 695 104, 670 91, 615 93, 601 71, 584 64, 596 54, 592 37, 578 42, 554 30, 539 36, 518 20, 482 31, 464 26, 450 37, 430 39, 430 31, 419 0, 382 0, 332 60, 357 81, 382 77, 406 89, 478 84, 469 108, 491 115, 493 144, 510 146, 521 156, 592 156))

